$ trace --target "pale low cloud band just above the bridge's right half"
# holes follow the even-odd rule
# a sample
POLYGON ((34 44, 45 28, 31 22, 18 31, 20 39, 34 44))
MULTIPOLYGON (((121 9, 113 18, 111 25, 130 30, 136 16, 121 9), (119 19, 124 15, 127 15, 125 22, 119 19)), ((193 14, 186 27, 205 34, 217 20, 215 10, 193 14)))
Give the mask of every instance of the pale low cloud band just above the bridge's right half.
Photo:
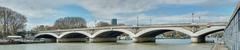
MULTIPOLYGON (((124 23, 136 25, 137 17, 121 17, 118 18, 124 23)), ((172 15, 172 16, 146 16, 140 15, 139 24, 162 24, 162 23, 191 23, 192 19, 194 22, 227 22, 229 20, 228 15, 211 14, 208 11, 196 12, 194 17, 192 13, 183 15, 172 15), (200 17, 200 18, 199 18, 200 17)))

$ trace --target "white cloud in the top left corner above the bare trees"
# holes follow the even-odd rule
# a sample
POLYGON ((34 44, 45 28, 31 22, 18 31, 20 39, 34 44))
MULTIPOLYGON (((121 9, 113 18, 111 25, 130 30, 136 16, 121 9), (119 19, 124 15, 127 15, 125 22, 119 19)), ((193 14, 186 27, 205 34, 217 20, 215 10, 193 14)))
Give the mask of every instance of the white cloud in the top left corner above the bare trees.
POLYGON ((65 4, 67 3, 56 0, 0 0, 0 6, 33 18, 55 17, 61 13, 56 8, 65 4))

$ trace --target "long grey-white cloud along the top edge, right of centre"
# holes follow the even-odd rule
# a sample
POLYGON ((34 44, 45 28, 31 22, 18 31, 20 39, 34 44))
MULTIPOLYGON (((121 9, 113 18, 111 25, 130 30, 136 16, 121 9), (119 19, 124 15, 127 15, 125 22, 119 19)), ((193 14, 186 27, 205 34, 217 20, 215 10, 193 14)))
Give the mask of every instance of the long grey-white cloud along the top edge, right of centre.
POLYGON ((209 7, 225 6, 231 2, 226 0, 85 0, 78 3, 91 11, 95 16, 117 16, 119 13, 141 14, 154 8, 156 5, 175 4, 209 7))

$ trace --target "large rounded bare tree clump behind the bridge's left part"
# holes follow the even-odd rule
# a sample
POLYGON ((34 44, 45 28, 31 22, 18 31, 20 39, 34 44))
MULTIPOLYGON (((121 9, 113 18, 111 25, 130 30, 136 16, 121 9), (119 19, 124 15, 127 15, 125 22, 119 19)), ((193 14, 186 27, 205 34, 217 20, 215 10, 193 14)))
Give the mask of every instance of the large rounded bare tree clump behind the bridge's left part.
POLYGON ((58 29, 86 28, 86 21, 81 17, 64 17, 56 20, 54 27, 58 29))

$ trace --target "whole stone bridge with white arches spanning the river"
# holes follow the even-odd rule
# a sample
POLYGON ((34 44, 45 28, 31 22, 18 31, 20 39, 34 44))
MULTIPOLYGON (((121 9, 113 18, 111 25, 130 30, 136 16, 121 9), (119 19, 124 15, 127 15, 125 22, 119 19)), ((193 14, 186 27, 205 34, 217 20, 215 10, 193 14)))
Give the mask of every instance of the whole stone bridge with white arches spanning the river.
MULTIPOLYGON (((152 37, 148 37, 148 36, 152 36, 155 34, 152 34, 151 31, 156 31, 156 30, 160 30, 160 31, 178 31, 178 32, 182 32, 185 34, 190 35, 191 37, 193 37, 193 41, 197 42, 197 41, 202 41, 202 35, 206 35, 208 33, 212 33, 215 31, 220 31, 222 29, 225 28, 226 25, 221 25, 221 24, 208 24, 208 23, 203 23, 203 24, 199 24, 199 25, 193 25, 193 24, 180 24, 180 25, 145 25, 145 26, 110 26, 110 27, 95 27, 95 28, 81 28, 81 29, 59 29, 59 30, 49 30, 49 31, 40 31, 38 35, 42 35, 42 34, 48 34, 48 33, 54 33, 59 37, 63 37, 64 35, 68 35, 71 33, 78 33, 78 34, 83 34, 86 35, 88 38, 93 38, 95 36, 98 36, 99 34, 102 35, 102 33, 106 33, 102 36, 105 35, 111 35, 111 31, 112 32, 121 32, 121 33, 125 33, 127 35, 129 35, 132 38, 136 38, 139 37, 140 39, 144 38, 146 39, 145 41, 151 40, 152 37), (194 32, 193 28, 197 28, 194 32), (151 33, 149 33, 151 32, 151 33), (110 33, 110 34, 109 34, 110 33), (146 34, 148 33, 148 34, 146 34), (149 35, 151 34, 151 35, 149 35), (199 36, 201 36, 199 38, 199 36), (148 37, 148 38, 146 38, 148 37)), ((53 35, 53 34, 50 34, 53 35)), ((54 37, 56 37, 56 35, 54 35, 54 37)), ((112 34, 112 35, 116 35, 116 34, 112 34)), ((119 35, 119 34, 117 34, 119 35)), ((110 36, 111 37, 111 36, 110 36)), ((114 36, 116 37, 116 36, 114 36)), ((86 38, 86 37, 84 37, 86 38)), ((106 41, 107 39, 99 39, 99 38, 93 38, 95 39, 95 41, 106 41)), ((93 40, 92 39, 92 40, 93 40)), ((111 38, 109 38, 111 39, 111 38)), ((135 39, 135 40, 139 40, 139 39, 135 39)), ((112 40, 111 40, 112 41, 112 40)), ((142 40, 144 41, 144 40, 142 40)), ((152 40, 151 40, 152 41, 152 40)))

